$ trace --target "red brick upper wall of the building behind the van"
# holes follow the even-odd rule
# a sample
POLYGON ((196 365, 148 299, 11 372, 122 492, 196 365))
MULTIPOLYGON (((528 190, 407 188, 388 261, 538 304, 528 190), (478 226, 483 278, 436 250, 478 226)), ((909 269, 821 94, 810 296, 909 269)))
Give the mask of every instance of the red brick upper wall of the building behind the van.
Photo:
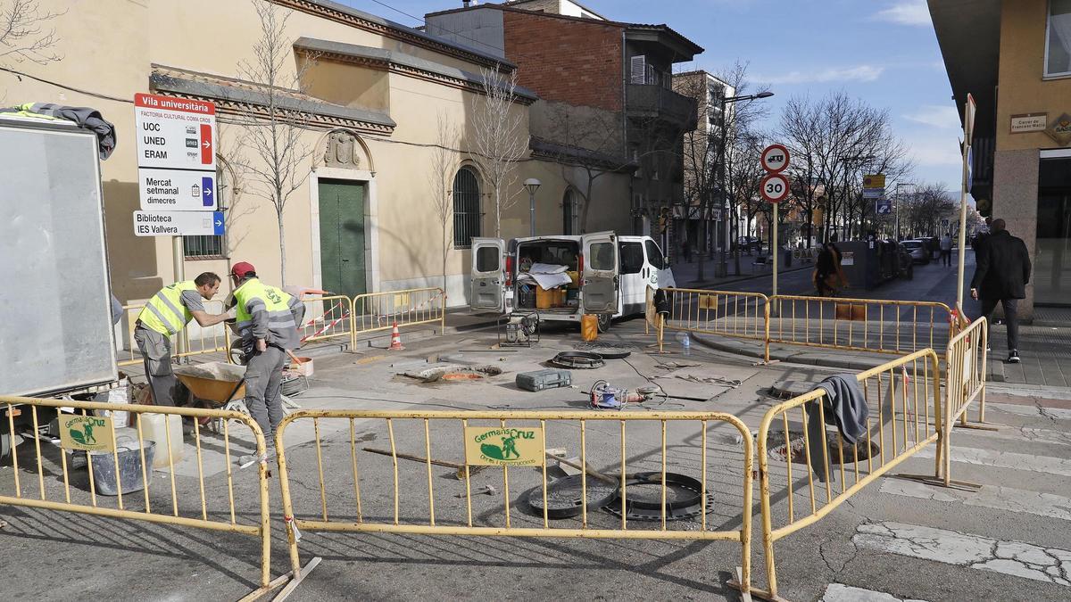
POLYGON ((540 97, 621 110, 621 28, 502 11, 506 56, 540 97))

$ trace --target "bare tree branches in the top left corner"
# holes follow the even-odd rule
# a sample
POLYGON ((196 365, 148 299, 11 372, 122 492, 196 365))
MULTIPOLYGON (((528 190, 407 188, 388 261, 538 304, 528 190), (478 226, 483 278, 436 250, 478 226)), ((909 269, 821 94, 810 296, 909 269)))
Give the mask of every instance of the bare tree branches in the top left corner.
POLYGON ((56 52, 56 30, 45 28, 62 14, 43 11, 37 0, 0 0, 0 67, 61 60, 56 52))

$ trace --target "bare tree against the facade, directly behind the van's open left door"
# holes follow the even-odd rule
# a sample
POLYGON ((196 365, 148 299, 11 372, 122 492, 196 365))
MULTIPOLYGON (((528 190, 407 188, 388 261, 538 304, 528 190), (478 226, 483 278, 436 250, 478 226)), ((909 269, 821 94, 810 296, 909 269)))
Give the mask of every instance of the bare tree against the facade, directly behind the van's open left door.
POLYGON ((498 64, 481 69, 480 85, 483 95, 472 116, 470 156, 493 190, 495 237, 502 238, 502 212, 516 205, 521 194, 521 186, 515 185, 516 164, 528 152, 528 133, 524 111, 513 109, 517 72, 506 76, 498 64))

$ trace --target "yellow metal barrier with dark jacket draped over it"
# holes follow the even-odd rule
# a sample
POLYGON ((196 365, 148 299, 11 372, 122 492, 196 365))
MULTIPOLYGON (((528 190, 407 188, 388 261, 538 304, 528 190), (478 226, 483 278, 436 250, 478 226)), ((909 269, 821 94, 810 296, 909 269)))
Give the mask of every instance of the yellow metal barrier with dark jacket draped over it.
POLYGON ((832 417, 828 417, 824 407, 826 393, 823 390, 779 404, 763 417, 758 430, 759 501, 769 583, 769 591, 763 595, 769 599, 778 595, 775 541, 817 522, 930 443, 938 441, 940 450, 945 442, 940 440, 944 437, 941 417, 945 416, 940 372, 933 349, 897 358, 862 372, 856 378, 866 397, 870 416, 865 436, 855 445, 845 442, 835 427, 835 437, 827 435, 826 420, 832 417), (820 428, 820 435, 809 433, 809 417, 817 421, 814 428, 820 428), (814 436, 824 440, 812 441, 814 436), (794 469, 794 464, 799 467, 794 469), (802 470, 806 477, 796 470, 802 470), (816 473, 818 484, 815 483, 816 473), (840 493, 832 483, 838 477, 840 493), (771 486, 776 486, 775 493, 771 486), (779 505, 776 515, 772 505, 774 498, 786 501, 779 505))

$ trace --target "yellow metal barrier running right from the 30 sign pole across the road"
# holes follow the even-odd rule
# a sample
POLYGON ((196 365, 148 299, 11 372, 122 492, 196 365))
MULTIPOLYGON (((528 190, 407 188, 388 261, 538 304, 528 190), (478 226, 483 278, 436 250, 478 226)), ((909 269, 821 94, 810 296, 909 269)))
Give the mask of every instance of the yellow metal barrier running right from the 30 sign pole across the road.
POLYGON ((903 355, 944 346, 954 328, 949 306, 934 301, 775 295, 769 303, 769 343, 903 355))

